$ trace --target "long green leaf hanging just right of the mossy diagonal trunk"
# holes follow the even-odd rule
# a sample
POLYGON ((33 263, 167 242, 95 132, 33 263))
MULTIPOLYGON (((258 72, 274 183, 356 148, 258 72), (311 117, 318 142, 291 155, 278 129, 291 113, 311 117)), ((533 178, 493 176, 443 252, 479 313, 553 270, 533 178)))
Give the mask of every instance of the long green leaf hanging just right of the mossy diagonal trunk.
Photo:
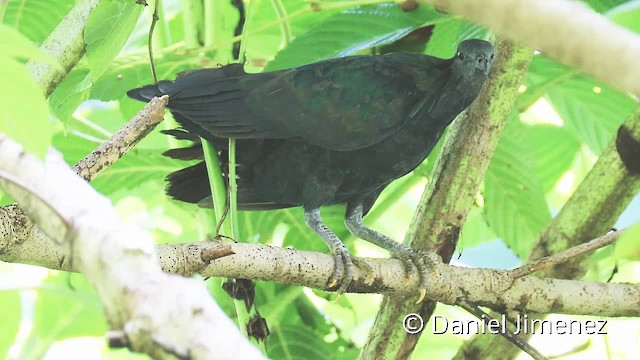
POLYGON ((487 223, 521 259, 551 220, 532 153, 525 126, 512 115, 484 180, 487 223))

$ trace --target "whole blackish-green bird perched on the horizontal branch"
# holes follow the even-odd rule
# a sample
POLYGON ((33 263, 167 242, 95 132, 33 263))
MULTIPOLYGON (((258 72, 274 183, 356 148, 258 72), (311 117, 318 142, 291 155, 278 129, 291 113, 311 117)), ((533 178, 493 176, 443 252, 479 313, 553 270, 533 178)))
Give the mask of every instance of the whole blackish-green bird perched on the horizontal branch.
MULTIPOLYGON (((352 281, 354 260, 320 217, 321 206, 338 203, 347 205, 349 231, 402 260, 408 274, 417 269, 424 289, 423 258, 367 228, 362 217, 391 181, 429 155, 445 127, 473 102, 492 60, 491 44, 473 39, 461 42, 451 59, 364 55, 257 74, 232 64, 186 71, 175 81, 127 95, 141 101, 169 95, 168 107, 186 131, 168 133, 205 138, 221 159, 226 139, 237 139, 239 209, 303 206, 307 225, 334 256, 330 286, 339 283, 339 292, 352 281)), ((196 144, 167 155, 202 159, 202 149, 196 144)), ((167 193, 175 199, 198 203, 211 195, 204 163, 167 180, 167 193)))

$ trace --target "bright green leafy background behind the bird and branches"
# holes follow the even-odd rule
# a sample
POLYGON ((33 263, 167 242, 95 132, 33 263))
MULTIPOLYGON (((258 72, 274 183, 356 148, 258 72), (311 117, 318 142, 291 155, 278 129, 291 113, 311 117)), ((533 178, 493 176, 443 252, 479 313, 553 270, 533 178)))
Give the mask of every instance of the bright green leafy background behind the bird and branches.
MULTIPOLYGON (((587 2, 613 21, 640 32, 640 1, 587 2)), ((24 64, 28 59, 46 59, 37 46, 74 3, 9 0, 0 27, 0 130, 29 151, 43 154, 53 146, 70 164, 141 108, 142 104, 125 97, 126 90, 153 82, 146 52, 152 7, 102 0, 85 32, 85 57, 48 100, 39 95, 24 64)), ((390 51, 449 57, 460 40, 489 36, 476 25, 425 6, 405 12, 396 4, 380 1, 318 4, 321 10, 313 11, 298 0, 254 0, 248 19, 247 71, 390 51)), ((185 69, 233 62, 238 19, 230 1, 162 1, 153 43, 158 77, 172 79, 185 69)), ((542 55, 534 57, 520 90, 483 191, 463 229, 461 255, 454 256, 460 264, 509 268, 526 258, 536 236, 636 106, 628 95, 542 55)), ((174 126, 171 121, 160 125, 174 126)), ((176 145, 176 140, 155 131, 92 182, 114 201, 123 218, 152 231, 158 242, 202 240, 212 232, 204 210, 170 201, 163 194, 164 176, 186 165, 160 155, 176 145)), ((403 238, 437 153, 384 191, 366 219, 369 225, 403 238)), ((1 200, 11 202, 6 196, 1 200)), ((342 224, 343 214, 341 206, 323 210, 327 224, 357 255, 386 256, 369 244, 354 241, 342 224)), ((326 251, 304 225, 300 209, 241 213, 239 220, 242 241, 326 251)), ((638 222, 640 198, 617 226, 638 222)), ((638 254, 637 241, 627 246, 638 254)), ((630 253, 610 248, 599 251, 587 278, 606 281, 617 266, 612 281, 637 282, 640 265, 630 253)), ((233 318, 233 304, 221 291, 220 280, 208 284, 233 318)), ((377 295, 347 295, 335 303, 327 301, 330 298, 323 292, 272 283, 259 283, 256 292, 256 304, 272 333, 267 340, 268 354, 275 359, 322 359, 327 354, 355 358, 380 300, 377 295)), ((141 357, 104 346, 102 336, 107 328, 100 303, 81 275, 0 263, 0 304, 0 358, 53 359, 72 353, 108 359, 141 357)), ((436 313, 469 317, 442 305, 436 313)), ((638 320, 612 320, 608 330, 608 336, 539 337, 533 344, 548 354, 570 353, 566 358, 631 358, 640 352, 638 320)), ((451 357, 464 338, 427 332, 414 356, 451 357)))

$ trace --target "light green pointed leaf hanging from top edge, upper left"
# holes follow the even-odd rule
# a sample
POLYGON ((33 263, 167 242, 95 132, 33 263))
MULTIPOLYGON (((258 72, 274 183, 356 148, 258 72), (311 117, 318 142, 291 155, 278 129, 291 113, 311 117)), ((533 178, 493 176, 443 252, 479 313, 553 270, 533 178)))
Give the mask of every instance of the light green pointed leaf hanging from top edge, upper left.
POLYGON ((135 1, 103 0, 91 12, 84 32, 89 75, 95 81, 109 67, 133 31, 144 6, 135 1))

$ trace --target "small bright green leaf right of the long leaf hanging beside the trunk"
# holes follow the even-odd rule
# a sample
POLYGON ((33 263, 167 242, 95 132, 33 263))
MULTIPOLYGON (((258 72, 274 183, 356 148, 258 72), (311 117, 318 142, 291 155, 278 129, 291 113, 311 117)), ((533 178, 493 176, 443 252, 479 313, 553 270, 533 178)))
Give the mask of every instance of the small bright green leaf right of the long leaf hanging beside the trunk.
POLYGON ((536 159, 536 174, 544 191, 551 190, 569 170, 580 150, 580 141, 567 129, 553 125, 527 126, 536 159))

